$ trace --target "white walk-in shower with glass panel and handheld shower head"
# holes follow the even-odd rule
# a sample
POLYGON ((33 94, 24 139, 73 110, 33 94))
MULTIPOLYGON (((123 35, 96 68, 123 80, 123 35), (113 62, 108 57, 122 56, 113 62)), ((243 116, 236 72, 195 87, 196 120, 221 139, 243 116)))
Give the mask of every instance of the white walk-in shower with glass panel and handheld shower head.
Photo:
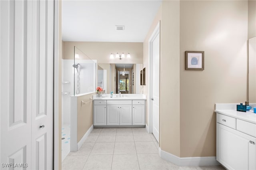
POLYGON ((62 58, 62 160, 70 152, 70 97, 93 93, 96 89, 97 61, 74 46, 62 58))

